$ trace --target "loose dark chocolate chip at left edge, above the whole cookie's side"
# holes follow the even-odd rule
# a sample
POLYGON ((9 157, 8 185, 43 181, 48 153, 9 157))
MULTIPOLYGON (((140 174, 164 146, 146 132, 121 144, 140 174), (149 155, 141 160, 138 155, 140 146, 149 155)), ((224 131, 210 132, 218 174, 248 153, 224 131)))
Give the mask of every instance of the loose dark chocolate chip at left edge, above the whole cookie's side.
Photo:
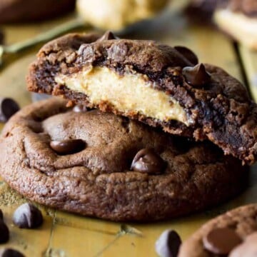
POLYGON ((19 105, 13 99, 0 98, 0 122, 8 121, 17 111, 19 111, 19 105))

